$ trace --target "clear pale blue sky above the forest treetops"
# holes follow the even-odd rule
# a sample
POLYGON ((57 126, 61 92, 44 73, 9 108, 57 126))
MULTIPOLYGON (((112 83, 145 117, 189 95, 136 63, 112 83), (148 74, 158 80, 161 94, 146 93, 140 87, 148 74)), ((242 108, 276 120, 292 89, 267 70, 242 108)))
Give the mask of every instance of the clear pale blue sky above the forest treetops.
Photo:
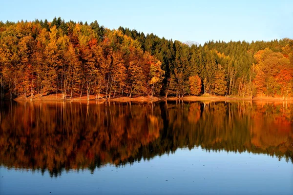
POLYGON ((2 0, 0 20, 98 20, 159 37, 209 40, 293 38, 293 0, 2 0))

